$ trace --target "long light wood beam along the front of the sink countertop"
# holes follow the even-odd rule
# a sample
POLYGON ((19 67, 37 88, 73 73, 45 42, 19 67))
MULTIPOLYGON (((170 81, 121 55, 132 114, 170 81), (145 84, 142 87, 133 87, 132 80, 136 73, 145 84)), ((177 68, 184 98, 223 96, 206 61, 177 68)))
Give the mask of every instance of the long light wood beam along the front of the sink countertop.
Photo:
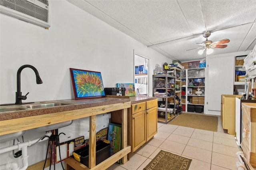
POLYGON ((22 117, 17 119, 9 119, 0 121, 0 135, 19 132, 37 127, 43 127, 74 119, 90 117, 111 111, 130 108, 131 102, 116 103, 110 105, 102 105, 97 107, 89 107, 84 109, 75 109, 71 111, 62 111, 57 113, 49 113, 45 115, 36 115, 31 117, 22 117))

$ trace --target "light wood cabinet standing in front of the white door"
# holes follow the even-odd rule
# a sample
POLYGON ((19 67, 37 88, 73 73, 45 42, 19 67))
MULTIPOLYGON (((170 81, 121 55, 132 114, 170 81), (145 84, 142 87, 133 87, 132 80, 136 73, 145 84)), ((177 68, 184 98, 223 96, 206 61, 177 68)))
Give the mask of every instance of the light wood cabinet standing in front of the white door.
POLYGON ((222 127, 228 134, 236 134, 236 97, 241 95, 221 95, 220 118, 222 127))

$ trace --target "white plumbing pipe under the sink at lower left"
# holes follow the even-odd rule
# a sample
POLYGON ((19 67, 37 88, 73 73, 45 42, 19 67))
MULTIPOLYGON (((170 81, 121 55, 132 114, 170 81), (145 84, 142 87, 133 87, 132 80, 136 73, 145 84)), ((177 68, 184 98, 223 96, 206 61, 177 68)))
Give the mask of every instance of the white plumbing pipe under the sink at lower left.
POLYGON ((5 153, 5 152, 10 152, 12 150, 18 149, 22 150, 22 164, 23 167, 20 168, 16 162, 7 162, 6 164, 0 165, 0 170, 4 169, 11 169, 11 170, 26 170, 28 168, 28 146, 31 146, 32 144, 35 144, 36 142, 42 142, 44 140, 48 140, 47 137, 44 139, 40 140, 41 138, 34 139, 34 140, 28 140, 27 142, 23 143, 18 143, 13 146, 8 146, 6 148, 0 148, 0 154, 5 153), (38 141, 39 140, 39 141, 38 141))

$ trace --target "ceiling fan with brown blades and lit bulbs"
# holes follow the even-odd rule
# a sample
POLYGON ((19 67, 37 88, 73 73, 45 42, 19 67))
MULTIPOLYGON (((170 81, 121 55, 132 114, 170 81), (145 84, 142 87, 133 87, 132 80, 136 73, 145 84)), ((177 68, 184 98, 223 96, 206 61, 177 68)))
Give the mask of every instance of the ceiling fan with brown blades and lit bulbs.
MULTIPOLYGON (((198 54, 202 55, 202 53, 204 53, 204 50, 206 50, 206 54, 210 54, 213 52, 213 49, 212 48, 226 48, 228 45, 224 44, 224 43, 228 43, 230 42, 229 39, 223 39, 223 40, 220 40, 220 41, 217 41, 217 42, 212 42, 211 40, 208 40, 208 37, 211 35, 211 32, 210 31, 206 31, 203 36, 204 38, 206 38, 206 40, 202 43, 196 43, 198 45, 202 45, 203 47, 198 47, 198 48, 193 48, 193 49, 199 49, 199 48, 203 48, 203 49, 200 49, 198 51, 198 54), (224 45, 222 45, 224 44, 224 45)), ((186 51, 189 51, 189 50, 192 50, 192 49, 188 49, 186 51)))

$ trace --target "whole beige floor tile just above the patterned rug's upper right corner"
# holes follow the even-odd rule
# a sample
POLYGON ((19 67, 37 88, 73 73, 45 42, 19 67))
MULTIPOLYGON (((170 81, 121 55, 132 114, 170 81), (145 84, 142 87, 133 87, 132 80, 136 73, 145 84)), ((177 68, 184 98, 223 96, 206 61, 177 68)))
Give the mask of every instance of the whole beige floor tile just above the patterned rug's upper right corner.
POLYGON ((182 155, 188 156, 193 159, 201 160, 203 162, 211 163, 212 152, 209 150, 204 150, 196 148, 193 146, 186 146, 182 155))

